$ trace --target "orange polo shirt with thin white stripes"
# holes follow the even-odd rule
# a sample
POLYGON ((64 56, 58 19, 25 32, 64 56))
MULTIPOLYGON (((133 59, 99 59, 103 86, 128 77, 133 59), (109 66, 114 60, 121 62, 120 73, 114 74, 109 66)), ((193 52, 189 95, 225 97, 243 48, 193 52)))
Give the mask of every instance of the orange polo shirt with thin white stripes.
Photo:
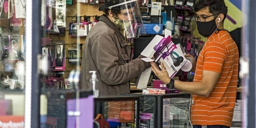
POLYGON ((231 126, 237 96, 239 54, 236 43, 226 30, 214 33, 200 52, 194 82, 202 80, 203 70, 220 73, 209 97, 193 95, 193 125, 231 126))

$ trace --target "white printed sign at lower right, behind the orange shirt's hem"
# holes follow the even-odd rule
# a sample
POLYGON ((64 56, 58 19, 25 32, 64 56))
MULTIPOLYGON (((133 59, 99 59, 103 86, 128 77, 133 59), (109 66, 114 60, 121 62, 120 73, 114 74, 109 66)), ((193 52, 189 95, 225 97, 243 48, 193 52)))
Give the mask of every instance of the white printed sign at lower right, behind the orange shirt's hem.
POLYGON ((242 128, 242 103, 244 100, 237 100, 234 106, 232 124, 230 128, 242 128))

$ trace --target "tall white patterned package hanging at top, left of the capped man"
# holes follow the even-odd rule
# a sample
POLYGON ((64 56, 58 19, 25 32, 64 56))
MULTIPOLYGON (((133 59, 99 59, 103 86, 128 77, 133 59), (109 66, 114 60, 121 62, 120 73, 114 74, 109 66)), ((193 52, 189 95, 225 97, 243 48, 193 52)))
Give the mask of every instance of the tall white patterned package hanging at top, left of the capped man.
POLYGON ((66 0, 56 0, 56 25, 66 27, 66 0))

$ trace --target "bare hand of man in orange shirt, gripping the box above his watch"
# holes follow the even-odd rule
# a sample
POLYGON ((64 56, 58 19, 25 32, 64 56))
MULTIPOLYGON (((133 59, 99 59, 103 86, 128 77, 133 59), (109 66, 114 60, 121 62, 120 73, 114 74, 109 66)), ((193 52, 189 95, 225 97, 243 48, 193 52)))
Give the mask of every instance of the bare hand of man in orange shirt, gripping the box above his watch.
POLYGON ((151 64, 151 70, 155 73, 155 75, 165 84, 170 83, 170 78, 169 78, 169 74, 166 71, 165 66, 163 65, 163 63, 161 62, 161 68, 162 70, 159 70, 158 66, 156 65, 155 62, 150 62, 151 64))

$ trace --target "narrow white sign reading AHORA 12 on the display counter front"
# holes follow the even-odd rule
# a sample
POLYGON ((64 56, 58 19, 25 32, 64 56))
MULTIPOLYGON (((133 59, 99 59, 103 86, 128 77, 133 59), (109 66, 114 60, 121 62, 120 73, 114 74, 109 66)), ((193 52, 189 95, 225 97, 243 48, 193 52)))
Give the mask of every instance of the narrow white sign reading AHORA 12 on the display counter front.
POLYGON ((169 128, 170 121, 170 98, 163 99, 163 128, 169 128))

